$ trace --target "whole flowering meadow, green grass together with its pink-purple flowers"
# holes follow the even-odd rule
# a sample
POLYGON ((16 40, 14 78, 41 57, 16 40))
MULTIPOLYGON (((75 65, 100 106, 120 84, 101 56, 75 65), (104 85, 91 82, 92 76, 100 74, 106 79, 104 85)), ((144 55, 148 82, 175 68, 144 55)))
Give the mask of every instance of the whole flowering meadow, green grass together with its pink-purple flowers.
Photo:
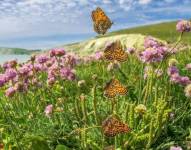
POLYGON ((6 62, 0 74, 0 146, 189 150, 191 52, 177 47, 187 42, 190 28, 179 22, 179 37, 171 45, 146 37, 144 49, 128 48, 122 62, 108 60, 103 51, 80 57, 63 49, 32 56, 24 64, 6 62), (127 93, 117 90, 113 96, 112 89, 109 98, 105 91, 111 79, 127 93))

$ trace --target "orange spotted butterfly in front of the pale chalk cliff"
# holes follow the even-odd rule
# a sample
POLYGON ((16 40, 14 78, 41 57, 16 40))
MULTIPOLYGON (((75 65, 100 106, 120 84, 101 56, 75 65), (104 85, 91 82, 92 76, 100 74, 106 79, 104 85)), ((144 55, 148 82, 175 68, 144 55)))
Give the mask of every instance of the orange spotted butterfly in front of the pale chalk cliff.
POLYGON ((115 41, 104 49, 104 57, 110 61, 124 62, 127 60, 128 53, 123 49, 120 41, 115 41))

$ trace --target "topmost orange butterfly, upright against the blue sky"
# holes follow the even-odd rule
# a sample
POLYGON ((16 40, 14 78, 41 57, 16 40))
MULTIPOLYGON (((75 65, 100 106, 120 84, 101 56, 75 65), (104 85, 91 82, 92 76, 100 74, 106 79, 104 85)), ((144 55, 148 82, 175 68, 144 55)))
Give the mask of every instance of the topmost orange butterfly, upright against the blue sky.
POLYGON ((94 31, 98 34, 104 35, 113 24, 100 7, 92 11, 91 17, 94 23, 94 31))

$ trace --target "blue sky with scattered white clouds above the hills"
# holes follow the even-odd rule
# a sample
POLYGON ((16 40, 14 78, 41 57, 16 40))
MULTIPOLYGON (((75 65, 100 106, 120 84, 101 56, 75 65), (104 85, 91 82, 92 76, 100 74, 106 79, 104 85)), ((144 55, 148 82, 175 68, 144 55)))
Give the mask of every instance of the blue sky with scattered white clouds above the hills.
POLYGON ((93 37, 97 6, 115 23, 110 31, 191 18, 191 0, 0 0, 0 47, 50 48, 93 37))

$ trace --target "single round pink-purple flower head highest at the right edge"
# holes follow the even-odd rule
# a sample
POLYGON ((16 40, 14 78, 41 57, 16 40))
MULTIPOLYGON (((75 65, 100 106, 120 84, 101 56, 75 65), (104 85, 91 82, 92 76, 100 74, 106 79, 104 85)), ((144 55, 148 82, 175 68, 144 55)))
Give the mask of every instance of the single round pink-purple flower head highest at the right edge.
POLYGON ((176 30, 178 32, 190 32, 191 30, 191 23, 187 20, 180 20, 176 25, 176 30))

